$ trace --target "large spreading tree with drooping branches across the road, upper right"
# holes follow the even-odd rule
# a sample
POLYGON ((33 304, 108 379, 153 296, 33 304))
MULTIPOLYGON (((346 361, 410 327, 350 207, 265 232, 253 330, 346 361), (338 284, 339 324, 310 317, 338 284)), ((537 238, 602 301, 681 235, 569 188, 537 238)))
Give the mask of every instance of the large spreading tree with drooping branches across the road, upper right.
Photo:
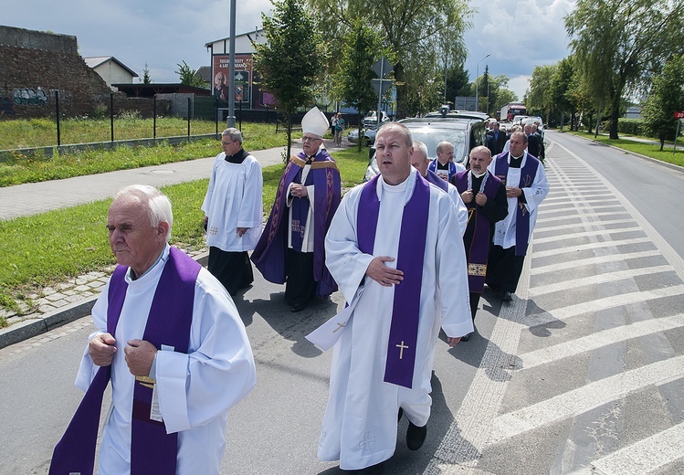
POLYGON ((643 87, 681 51, 683 24, 681 0, 578 0, 565 17, 584 90, 609 100, 611 139, 618 138, 623 94, 643 87))

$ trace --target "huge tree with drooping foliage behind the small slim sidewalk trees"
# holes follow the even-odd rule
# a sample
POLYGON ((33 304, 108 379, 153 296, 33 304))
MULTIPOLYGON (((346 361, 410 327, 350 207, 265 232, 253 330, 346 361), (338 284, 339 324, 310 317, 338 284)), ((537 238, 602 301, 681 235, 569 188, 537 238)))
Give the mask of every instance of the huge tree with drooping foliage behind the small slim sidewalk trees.
POLYGON ((406 105, 410 91, 425 89, 426 77, 440 75, 446 64, 445 54, 447 64, 465 58, 463 33, 472 15, 467 0, 308 1, 319 12, 332 42, 356 16, 365 16, 370 25, 379 27, 387 57, 395 67, 397 117, 414 115, 416 111, 406 105), (427 71, 428 76, 418 71, 427 71))

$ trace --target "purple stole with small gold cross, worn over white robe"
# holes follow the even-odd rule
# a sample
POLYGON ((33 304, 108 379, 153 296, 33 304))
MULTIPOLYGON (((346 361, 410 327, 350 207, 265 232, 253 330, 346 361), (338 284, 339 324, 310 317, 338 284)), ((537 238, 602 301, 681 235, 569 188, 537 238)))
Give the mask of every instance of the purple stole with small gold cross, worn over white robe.
MULTIPOLYGON (((356 228, 359 249, 373 255, 380 200, 377 181, 380 175, 363 185, 356 228)), ((441 178, 440 178, 441 179, 441 178)), ((404 206, 396 269, 404 271, 404 280, 395 286, 392 322, 387 343, 384 381, 410 388, 416 364, 416 342, 420 319, 420 292, 423 280, 427 216, 430 206, 430 186, 416 174, 413 195, 404 206)))

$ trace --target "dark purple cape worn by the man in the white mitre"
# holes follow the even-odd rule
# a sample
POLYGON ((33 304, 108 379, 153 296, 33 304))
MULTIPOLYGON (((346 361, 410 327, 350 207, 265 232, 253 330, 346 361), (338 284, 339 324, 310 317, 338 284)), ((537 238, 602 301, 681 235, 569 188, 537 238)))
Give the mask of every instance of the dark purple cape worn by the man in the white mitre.
MULTIPOLYGON (((285 249, 288 247, 286 232, 290 232, 289 229, 285 229, 288 219, 288 187, 304 168, 305 163, 304 153, 289 159, 285 172, 280 177, 268 222, 252 253, 252 262, 269 282, 285 283, 285 249)), ((313 214, 313 278, 318 282, 316 294, 326 296, 337 290, 337 283, 325 267, 325 234, 330 227, 332 216, 340 206, 340 172, 331 156, 323 150, 314 157, 307 179, 311 175, 316 209, 313 214)), ((294 200, 301 201, 300 198, 294 200)))

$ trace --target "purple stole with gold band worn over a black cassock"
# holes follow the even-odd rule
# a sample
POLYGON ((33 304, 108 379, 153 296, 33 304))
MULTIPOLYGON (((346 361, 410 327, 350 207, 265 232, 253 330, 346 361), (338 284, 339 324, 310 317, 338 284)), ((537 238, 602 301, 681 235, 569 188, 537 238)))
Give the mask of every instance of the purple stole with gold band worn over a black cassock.
MULTIPOLYGON (((458 172, 456 174, 455 182, 458 193, 468 191, 468 174, 466 172, 458 172)), ((500 180, 493 174, 487 172, 485 176, 487 182, 485 183, 482 193, 487 195, 488 200, 493 200, 497 195, 500 180)), ((485 177, 482 179, 484 180, 485 177)), ((482 293, 485 290, 485 277, 487 276, 487 261, 489 259, 489 243, 491 242, 491 223, 489 220, 479 212, 479 206, 475 204, 475 195, 479 190, 472 190, 473 201, 468 204, 468 226, 470 226, 470 219, 473 220, 473 236, 470 241, 470 248, 466 249, 468 257, 468 290, 474 293, 482 293)))

